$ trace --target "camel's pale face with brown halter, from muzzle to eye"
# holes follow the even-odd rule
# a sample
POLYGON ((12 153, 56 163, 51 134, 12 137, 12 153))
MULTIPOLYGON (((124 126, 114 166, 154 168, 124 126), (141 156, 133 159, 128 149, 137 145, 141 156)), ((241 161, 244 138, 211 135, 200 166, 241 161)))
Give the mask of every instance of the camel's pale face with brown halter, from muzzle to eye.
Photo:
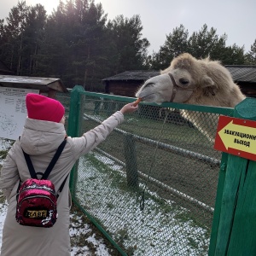
POLYGON ((148 79, 136 96, 144 102, 186 102, 195 84, 186 70, 176 69, 148 79))

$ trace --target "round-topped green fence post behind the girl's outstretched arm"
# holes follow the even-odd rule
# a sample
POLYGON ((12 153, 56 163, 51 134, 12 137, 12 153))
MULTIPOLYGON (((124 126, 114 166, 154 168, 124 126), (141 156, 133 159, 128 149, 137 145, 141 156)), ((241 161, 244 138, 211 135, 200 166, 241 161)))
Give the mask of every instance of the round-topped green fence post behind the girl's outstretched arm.
MULTIPOLYGON (((83 113, 83 104, 81 102, 81 92, 84 92, 84 88, 80 85, 73 87, 70 94, 70 105, 69 105, 69 116, 68 116, 68 126, 67 135, 70 137, 80 136, 81 127, 81 114, 83 113)), ((74 164, 72 171, 70 173, 69 188, 71 195, 75 195, 75 185, 77 181, 77 170, 79 166, 79 160, 74 164)))

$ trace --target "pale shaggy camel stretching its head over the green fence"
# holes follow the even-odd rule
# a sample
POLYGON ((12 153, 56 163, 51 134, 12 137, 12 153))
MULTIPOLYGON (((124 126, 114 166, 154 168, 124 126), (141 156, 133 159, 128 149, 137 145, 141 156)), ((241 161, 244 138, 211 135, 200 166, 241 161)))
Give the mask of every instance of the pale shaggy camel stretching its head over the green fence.
MULTIPOLYGON (((211 61, 210 58, 197 60, 188 53, 177 56, 160 75, 148 79, 137 90, 136 96, 144 102, 157 104, 181 102, 227 108, 234 108, 246 97, 219 61, 211 61)), ((212 131, 216 130, 218 120, 211 119, 210 113, 198 115, 182 110, 181 114, 214 142, 212 131)))

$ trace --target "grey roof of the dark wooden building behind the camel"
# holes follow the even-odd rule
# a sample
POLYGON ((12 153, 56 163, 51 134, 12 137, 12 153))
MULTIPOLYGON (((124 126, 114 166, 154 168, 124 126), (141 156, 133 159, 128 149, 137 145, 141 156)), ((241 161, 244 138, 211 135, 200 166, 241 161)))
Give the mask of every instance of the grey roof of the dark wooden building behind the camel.
MULTIPOLYGON (((231 76, 235 82, 247 82, 256 83, 256 65, 244 66, 244 65, 227 65, 225 66, 231 73, 231 76)), ((134 70, 125 71, 119 73, 113 77, 102 79, 102 81, 114 81, 114 80, 147 80, 154 76, 159 75, 159 71, 147 71, 147 70, 134 70)))

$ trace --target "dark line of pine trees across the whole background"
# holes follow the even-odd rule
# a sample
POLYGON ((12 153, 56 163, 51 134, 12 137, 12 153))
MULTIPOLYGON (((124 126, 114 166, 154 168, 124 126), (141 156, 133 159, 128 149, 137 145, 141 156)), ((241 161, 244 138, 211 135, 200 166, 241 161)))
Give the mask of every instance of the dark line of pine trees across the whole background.
POLYGON ((256 65, 256 39, 245 53, 236 44, 226 46, 227 35, 206 24, 191 36, 183 25, 174 28, 152 55, 142 31, 139 15, 108 20, 94 0, 60 1, 51 15, 22 0, 0 20, 0 60, 16 75, 58 78, 91 91, 102 91, 102 79, 117 73, 164 69, 183 52, 224 65, 256 65))

